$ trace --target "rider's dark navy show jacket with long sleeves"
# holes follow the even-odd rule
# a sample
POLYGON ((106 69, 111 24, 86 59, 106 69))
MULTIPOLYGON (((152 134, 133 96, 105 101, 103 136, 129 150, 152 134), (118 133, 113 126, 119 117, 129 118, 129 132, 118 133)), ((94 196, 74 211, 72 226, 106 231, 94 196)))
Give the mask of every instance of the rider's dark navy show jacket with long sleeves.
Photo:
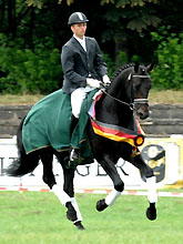
POLYGON ((64 74, 62 91, 71 93, 78 88, 85 88, 87 78, 101 80, 108 74, 99 44, 94 38, 85 37, 87 52, 72 37, 63 47, 61 64, 64 74))

